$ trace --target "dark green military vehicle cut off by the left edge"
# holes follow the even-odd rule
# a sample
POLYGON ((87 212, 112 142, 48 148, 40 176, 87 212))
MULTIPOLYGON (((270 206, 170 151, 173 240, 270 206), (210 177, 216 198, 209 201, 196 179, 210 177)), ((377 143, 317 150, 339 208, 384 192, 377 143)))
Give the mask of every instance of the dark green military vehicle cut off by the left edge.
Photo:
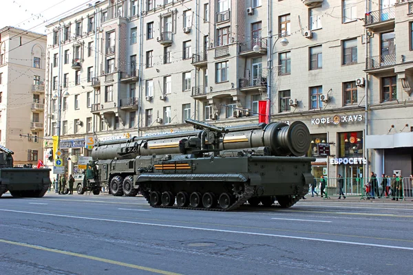
POLYGON ((0 197, 43 197, 50 184, 50 169, 13 167, 13 151, 0 145, 0 197))

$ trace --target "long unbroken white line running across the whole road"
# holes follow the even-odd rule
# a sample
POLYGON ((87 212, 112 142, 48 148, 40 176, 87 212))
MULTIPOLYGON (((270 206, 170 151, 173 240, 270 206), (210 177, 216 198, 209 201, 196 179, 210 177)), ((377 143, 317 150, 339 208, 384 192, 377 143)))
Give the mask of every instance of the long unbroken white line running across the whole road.
MULTIPOLYGON (((214 229, 214 228, 195 228, 195 227, 192 227, 192 226, 170 225, 170 224, 160 224, 160 223, 142 223, 142 222, 138 222, 138 221, 122 221, 122 220, 116 220, 116 219, 98 219, 98 218, 70 216, 70 215, 63 215, 63 214, 49 214, 49 213, 28 212, 28 211, 8 210, 8 209, 0 209, 0 211, 23 213, 23 214, 37 214, 37 215, 41 215, 41 216, 63 217, 63 218, 70 218, 70 219, 85 219, 85 220, 89 220, 89 221, 109 221, 109 222, 114 222, 114 223, 129 223, 129 224, 159 226, 159 227, 162 227, 162 228, 181 228, 181 229, 189 229, 189 230, 200 230, 200 231, 209 231, 209 232, 223 232, 223 233, 244 234, 244 235, 253 235, 253 236, 272 236, 272 237, 284 238, 284 239, 296 239, 296 240, 305 240, 305 241, 321 241, 321 242, 324 242, 324 243, 342 243, 342 244, 347 244, 347 245, 361 245, 361 246, 370 246, 370 247, 374 247, 374 248, 391 248, 391 249, 396 249, 396 250, 410 250, 410 251, 413 251, 413 248, 408 248, 408 247, 405 247, 405 246, 380 245, 380 244, 376 244, 376 243, 358 243, 358 242, 354 242, 354 241, 337 241, 337 240, 310 238, 310 237, 305 237, 305 236, 288 236, 288 235, 279 235, 279 234, 266 234, 266 233, 258 233, 258 232, 246 232, 246 231, 224 230, 224 229, 214 229)), ((228 225, 228 226, 231 226, 231 225, 228 225)))

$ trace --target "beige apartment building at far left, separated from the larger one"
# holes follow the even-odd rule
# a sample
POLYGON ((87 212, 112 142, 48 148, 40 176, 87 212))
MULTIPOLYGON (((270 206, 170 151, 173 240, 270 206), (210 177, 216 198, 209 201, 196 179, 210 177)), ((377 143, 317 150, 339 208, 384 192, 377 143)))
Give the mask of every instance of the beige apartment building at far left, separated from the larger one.
POLYGON ((41 34, 0 29, 0 144, 15 166, 43 159, 45 54, 41 34))

